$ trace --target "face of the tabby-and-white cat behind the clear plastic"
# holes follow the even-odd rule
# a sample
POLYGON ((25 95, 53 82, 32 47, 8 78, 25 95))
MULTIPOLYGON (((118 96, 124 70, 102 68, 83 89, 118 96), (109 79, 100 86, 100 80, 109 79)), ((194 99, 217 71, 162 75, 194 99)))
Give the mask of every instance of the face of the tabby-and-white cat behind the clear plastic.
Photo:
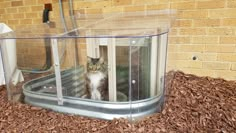
POLYGON ((104 60, 103 58, 91 58, 87 59, 87 71, 88 72, 96 72, 103 71, 104 69, 104 60))

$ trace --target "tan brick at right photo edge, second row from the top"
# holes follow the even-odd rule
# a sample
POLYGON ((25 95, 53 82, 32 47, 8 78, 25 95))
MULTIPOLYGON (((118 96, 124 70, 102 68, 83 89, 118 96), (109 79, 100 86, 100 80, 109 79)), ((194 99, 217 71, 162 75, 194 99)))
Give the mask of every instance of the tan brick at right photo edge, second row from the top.
POLYGON ((209 18, 235 18, 236 17, 236 9, 217 9, 217 10, 209 10, 209 18))

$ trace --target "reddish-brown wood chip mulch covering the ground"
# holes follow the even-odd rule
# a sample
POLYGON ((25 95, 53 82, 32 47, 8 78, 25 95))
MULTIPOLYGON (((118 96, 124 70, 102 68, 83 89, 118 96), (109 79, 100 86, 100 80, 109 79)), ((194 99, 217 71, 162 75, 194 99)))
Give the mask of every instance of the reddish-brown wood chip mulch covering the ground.
POLYGON ((169 73, 167 102, 161 113, 137 123, 65 115, 21 103, 9 103, 0 89, 1 132, 236 132, 236 81, 169 73))

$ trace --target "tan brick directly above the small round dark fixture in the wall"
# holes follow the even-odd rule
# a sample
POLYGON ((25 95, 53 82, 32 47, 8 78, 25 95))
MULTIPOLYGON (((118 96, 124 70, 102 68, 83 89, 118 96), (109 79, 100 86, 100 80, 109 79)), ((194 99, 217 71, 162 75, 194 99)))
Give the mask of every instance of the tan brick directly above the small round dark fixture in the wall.
POLYGON ((178 50, 182 52, 203 52, 205 45, 179 45, 178 50))

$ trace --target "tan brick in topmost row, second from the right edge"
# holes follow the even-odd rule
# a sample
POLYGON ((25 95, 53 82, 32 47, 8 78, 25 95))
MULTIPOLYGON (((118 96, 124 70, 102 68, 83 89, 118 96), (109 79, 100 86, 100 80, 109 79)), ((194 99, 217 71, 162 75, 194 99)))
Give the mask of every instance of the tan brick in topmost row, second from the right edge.
POLYGON ((207 0, 207 1, 198 1, 197 8, 199 9, 212 9, 212 8, 224 8, 225 0, 207 0))

